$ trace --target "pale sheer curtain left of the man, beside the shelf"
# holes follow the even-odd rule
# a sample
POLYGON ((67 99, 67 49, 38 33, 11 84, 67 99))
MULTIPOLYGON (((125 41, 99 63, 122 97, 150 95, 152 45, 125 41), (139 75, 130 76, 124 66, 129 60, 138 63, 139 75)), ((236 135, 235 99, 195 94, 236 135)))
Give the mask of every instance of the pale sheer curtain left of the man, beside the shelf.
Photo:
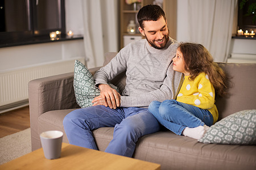
POLYGON ((86 66, 102 66, 104 53, 118 51, 117 0, 82 0, 86 66))

